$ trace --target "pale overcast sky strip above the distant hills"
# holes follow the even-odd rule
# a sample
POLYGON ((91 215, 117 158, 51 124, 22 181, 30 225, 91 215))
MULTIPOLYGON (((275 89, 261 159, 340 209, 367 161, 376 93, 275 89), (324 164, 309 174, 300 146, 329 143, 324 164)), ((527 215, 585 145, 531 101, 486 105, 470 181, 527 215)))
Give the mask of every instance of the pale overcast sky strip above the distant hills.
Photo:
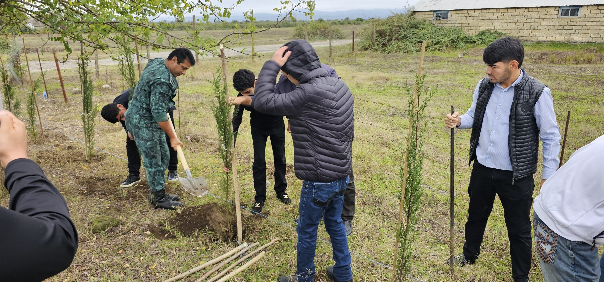
MULTIPOLYGON (((292 2, 295 2, 294 0, 292 2)), ((409 0, 410 5, 414 5, 419 0, 409 0)), ((236 0, 223 0, 222 6, 230 6, 236 0)), ((279 0, 245 0, 233 11, 234 14, 243 13, 243 11, 254 9, 256 13, 274 13, 273 8, 279 6, 279 0)), ((319 11, 345 11, 356 9, 402 9, 406 6, 406 0, 316 0, 315 10, 319 11)))

